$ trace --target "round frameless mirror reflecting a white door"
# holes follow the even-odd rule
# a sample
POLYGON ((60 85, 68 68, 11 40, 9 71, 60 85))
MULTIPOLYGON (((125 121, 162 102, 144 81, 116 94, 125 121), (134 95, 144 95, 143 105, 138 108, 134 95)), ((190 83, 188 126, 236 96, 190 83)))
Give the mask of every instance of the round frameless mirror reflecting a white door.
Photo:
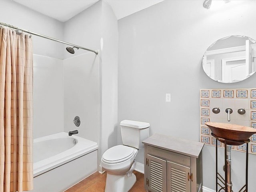
POLYGON ((250 77, 256 71, 256 41, 247 36, 221 38, 208 47, 202 65, 213 80, 234 83, 250 77))

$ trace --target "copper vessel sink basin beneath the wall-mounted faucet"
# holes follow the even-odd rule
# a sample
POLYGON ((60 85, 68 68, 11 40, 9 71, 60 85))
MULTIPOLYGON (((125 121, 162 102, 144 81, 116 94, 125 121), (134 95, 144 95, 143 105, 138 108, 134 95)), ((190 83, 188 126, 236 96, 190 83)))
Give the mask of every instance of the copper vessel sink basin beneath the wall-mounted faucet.
POLYGON ((243 142, 248 140, 250 136, 256 133, 255 128, 241 125, 216 122, 206 122, 205 124, 210 128, 214 136, 223 138, 225 140, 243 142))

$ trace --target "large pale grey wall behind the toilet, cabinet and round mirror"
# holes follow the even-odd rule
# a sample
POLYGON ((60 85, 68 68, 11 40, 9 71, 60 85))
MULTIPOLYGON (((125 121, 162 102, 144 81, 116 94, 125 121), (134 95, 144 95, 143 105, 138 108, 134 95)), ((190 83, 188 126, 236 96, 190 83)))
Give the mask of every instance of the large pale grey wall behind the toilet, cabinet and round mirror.
MULTIPOLYGON (((219 10, 206 10, 202 3, 164 1, 118 20, 118 122, 149 122, 150 135, 199 141, 200 89, 255 88, 256 75, 233 84, 213 81, 203 71, 202 56, 208 46, 225 36, 256 39, 256 13, 252 8, 256 1, 231 1, 229 8, 219 10), (172 102, 165 102, 166 93, 171 94, 172 102)), ((204 146, 203 185, 212 189, 214 158, 214 148, 204 146)), ((249 158, 248 191, 254 191, 256 156, 249 154, 249 158)), ((143 163, 143 153, 136 159, 143 163)), ((232 159, 232 180, 237 185, 234 191, 238 191, 245 184, 245 154, 232 151, 232 159)), ((224 165, 221 162, 219 169, 224 165)))

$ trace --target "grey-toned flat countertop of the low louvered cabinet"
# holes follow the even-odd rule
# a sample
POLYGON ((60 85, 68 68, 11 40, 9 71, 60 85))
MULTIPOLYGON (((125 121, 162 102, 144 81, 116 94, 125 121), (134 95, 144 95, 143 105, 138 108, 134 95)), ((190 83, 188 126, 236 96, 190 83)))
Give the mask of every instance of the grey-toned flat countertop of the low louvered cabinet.
POLYGON ((192 140, 154 134, 142 141, 143 144, 198 158, 204 144, 192 140))

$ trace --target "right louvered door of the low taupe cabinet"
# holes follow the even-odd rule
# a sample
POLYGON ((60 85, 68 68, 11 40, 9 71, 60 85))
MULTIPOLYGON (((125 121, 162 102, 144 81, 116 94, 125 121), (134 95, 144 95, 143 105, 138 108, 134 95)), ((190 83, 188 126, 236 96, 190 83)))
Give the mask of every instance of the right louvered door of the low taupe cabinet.
POLYGON ((167 191, 190 192, 190 167, 167 161, 167 191))

